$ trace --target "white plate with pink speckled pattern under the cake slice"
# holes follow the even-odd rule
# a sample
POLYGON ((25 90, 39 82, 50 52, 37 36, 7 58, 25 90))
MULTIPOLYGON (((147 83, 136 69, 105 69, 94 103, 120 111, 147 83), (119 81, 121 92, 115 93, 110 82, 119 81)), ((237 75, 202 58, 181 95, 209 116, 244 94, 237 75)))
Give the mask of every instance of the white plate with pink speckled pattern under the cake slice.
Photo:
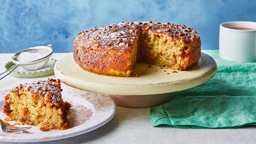
MULTIPOLYGON (((115 103, 111 98, 107 97, 107 95, 77 90, 65 84, 62 84, 62 89, 63 100, 73 105, 73 107, 71 107, 71 114, 68 116, 68 119, 71 121, 69 129, 43 132, 38 129, 39 127, 32 126, 32 129, 20 133, 0 132, 0 141, 37 142, 74 137, 95 130, 106 124, 116 113, 115 103)), ((0 91, 1 119, 6 117, 2 111, 4 97, 9 91, 10 90, 0 91)), ((10 124, 13 123, 15 122, 10 122, 10 124)))

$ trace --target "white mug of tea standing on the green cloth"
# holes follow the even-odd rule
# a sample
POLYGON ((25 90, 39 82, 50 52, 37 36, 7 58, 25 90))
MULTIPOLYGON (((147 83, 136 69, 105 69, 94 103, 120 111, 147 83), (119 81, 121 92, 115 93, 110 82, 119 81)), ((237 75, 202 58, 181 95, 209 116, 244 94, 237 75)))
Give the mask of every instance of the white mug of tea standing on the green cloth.
POLYGON ((222 59, 230 61, 256 61, 256 22, 230 21, 221 23, 219 52, 222 59))

